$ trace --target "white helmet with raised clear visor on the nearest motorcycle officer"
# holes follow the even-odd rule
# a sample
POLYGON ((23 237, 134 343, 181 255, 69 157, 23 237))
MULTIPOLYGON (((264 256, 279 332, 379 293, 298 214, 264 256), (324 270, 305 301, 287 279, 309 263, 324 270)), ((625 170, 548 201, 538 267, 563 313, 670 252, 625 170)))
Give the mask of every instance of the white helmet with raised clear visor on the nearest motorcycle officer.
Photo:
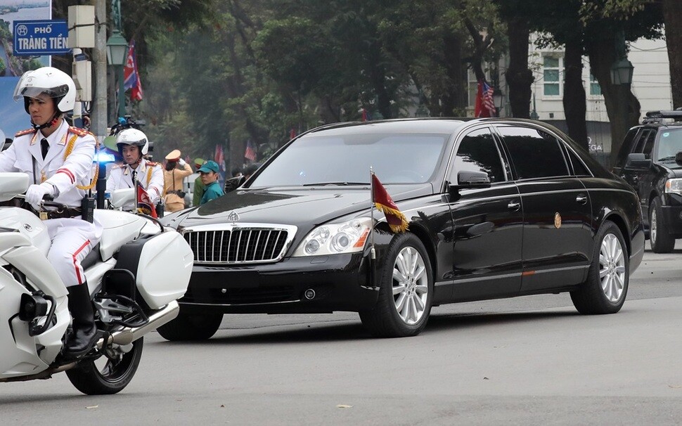
POLYGON ((24 108, 28 112, 28 99, 46 93, 55 99, 57 110, 67 112, 76 103, 76 85, 67 73, 53 67, 41 67, 27 71, 14 89, 14 101, 24 97, 24 108))

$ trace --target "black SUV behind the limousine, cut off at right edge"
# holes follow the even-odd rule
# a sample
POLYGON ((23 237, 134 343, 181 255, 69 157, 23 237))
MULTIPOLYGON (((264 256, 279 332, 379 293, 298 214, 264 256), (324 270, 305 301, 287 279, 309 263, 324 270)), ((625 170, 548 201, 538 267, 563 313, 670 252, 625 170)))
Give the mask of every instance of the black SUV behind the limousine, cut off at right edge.
POLYGON ((628 131, 613 173, 637 191, 651 249, 682 238, 682 111, 650 111, 628 131))

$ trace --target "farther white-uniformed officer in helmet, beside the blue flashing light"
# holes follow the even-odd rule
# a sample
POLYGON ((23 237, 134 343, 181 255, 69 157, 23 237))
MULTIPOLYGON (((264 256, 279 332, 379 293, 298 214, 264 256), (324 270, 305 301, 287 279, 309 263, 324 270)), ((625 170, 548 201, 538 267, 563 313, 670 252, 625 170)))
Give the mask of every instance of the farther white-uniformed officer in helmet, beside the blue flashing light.
MULTIPOLYGON (((147 191, 152 204, 159 202, 163 193, 163 168, 161 164, 145 160, 144 155, 149 150, 147 136, 138 129, 125 129, 117 134, 116 145, 124 164, 111 169, 107 192, 134 188, 136 180, 147 191)), ((130 202, 123 209, 130 211, 136 207, 134 202, 130 202)))

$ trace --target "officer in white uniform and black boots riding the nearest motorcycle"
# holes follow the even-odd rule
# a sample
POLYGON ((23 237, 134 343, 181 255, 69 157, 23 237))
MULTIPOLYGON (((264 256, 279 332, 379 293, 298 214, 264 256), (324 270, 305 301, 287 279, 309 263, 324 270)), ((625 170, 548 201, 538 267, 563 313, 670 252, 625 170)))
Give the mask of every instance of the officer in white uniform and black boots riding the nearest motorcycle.
MULTIPOLYGON (((102 228, 81 218, 81 205, 91 186, 95 138, 69 127, 64 113, 73 109, 76 88, 65 72, 41 67, 22 75, 14 100, 23 98, 32 129, 16 134, 12 145, 0 153, 0 172, 24 172, 32 185, 25 200, 36 210, 44 195, 67 206, 62 212, 43 212, 51 247, 47 255, 69 292, 72 333, 63 354, 86 354, 97 340, 94 311, 81 262, 97 245, 102 228)), ((47 208, 49 209, 49 207, 47 208)))

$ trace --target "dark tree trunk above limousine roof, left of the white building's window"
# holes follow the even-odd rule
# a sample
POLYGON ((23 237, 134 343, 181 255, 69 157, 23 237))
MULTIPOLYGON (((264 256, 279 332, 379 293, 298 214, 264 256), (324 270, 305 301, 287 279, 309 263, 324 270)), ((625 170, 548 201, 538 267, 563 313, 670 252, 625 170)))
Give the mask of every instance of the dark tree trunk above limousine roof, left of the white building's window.
POLYGON ((509 105, 512 117, 530 118, 531 84, 533 72, 528 69, 530 30, 527 20, 511 18, 507 22, 509 37, 509 67, 505 78, 509 86, 509 105))

